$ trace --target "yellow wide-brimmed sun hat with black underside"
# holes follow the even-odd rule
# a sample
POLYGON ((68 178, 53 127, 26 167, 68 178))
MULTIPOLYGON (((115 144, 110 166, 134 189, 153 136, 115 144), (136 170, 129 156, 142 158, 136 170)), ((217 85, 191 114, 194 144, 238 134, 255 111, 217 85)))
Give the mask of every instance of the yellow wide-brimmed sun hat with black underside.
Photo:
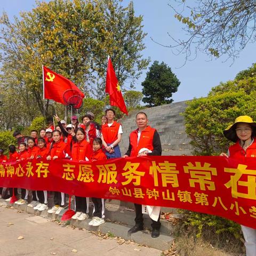
POLYGON ((250 116, 238 116, 235 119, 234 124, 230 124, 224 131, 224 136, 233 142, 236 142, 238 140, 238 137, 236 135, 236 125, 238 123, 247 123, 250 124, 252 127, 256 129, 256 123, 253 122, 253 119, 250 116))

